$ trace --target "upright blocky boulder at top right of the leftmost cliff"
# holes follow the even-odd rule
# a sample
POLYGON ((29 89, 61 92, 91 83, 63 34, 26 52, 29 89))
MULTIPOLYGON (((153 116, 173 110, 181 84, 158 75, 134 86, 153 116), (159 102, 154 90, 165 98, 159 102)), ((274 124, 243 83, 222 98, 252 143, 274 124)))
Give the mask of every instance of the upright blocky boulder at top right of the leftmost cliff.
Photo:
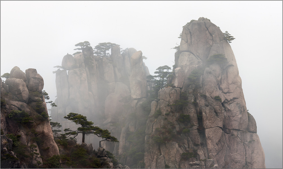
POLYGON ((25 75, 28 81, 27 88, 30 91, 42 91, 44 86, 43 78, 37 73, 36 69, 25 70, 25 75))

